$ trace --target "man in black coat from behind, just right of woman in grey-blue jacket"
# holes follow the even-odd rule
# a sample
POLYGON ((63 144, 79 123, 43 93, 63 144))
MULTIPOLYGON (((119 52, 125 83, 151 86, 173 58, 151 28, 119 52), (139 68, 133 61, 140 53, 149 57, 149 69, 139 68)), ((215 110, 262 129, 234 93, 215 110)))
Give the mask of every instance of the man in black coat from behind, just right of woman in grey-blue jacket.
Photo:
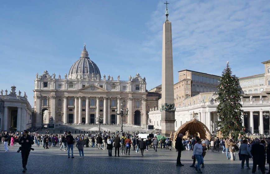
POLYGON ((256 139, 255 144, 252 145, 251 148, 251 155, 253 157, 253 167, 252 167, 252 173, 256 172, 257 165, 260 167, 262 173, 265 173, 264 166, 263 166, 263 158, 265 154, 264 146, 260 144, 260 140, 256 139))

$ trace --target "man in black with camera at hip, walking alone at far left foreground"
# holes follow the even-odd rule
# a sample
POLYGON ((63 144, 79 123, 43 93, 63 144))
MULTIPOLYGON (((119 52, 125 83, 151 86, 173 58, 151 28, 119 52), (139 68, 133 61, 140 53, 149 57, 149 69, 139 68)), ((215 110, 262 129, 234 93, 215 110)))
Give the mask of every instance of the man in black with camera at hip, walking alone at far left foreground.
POLYGON ((27 130, 23 131, 23 136, 20 138, 19 144, 21 145, 22 172, 26 172, 28 156, 31 151, 32 144, 34 144, 34 140, 30 137, 30 135, 28 135, 27 130))

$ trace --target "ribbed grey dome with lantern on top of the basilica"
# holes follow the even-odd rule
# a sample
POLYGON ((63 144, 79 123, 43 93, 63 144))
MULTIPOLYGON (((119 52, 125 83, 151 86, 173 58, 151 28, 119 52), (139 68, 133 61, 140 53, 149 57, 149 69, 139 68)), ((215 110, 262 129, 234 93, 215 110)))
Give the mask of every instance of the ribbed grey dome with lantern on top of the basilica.
POLYGON ((88 51, 84 46, 81 51, 81 57, 71 66, 69 73, 69 79, 100 79, 100 70, 97 65, 89 59, 88 51))

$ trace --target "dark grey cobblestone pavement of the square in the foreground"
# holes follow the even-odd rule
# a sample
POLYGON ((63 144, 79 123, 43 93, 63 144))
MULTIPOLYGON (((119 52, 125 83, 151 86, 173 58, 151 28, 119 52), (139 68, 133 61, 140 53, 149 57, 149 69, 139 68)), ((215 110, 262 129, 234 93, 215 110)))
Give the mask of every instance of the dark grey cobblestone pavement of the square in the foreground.
MULTIPOLYGON (((17 153, 19 146, 9 147, 9 152, 5 152, 3 143, 0 145, 0 169, 2 174, 6 173, 22 173, 21 152, 17 153)), ((155 152, 152 148, 144 152, 144 156, 135 151, 130 151, 130 156, 121 155, 114 157, 108 156, 107 150, 99 150, 97 147, 85 147, 85 158, 79 156, 78 149, 74 146, 74 157, 67 158, 67 151, 60 151, 59 147, 50 147, 44 149, 37 147, 30 152, 27 164, 26 173, 42 173, 42 174, 69 174, 69 173, 197 173, 193 167, 191 156, 192 151, 183 151, 181 162, 183 167, 176 167, 177 152, 175 149, 169 151, 167 149, 158 148, 155 152)), ((132 147, 133 149, 133 147, 132 147)), ((221 174, 221 173, 251 173, 246 167, 241 169, 241 161, 236 153, 236 161, 226 160, 226 155, 221 152, 207 152, 204 157, 205 168, 202 168, 203 173, 221 174)), ((252 160, 249 161, 249 167, 252 167, 252 160)), ((266 166, 268 168, 268 165, 266 166)), ((256 173, 261 173, 256 171, 256 173)))

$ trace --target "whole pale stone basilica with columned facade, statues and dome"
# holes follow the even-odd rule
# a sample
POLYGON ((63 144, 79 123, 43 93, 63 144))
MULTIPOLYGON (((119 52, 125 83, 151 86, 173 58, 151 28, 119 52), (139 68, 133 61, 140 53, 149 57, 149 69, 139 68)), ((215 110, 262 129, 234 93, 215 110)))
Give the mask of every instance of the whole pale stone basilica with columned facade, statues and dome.
POLYGON ((138 73, 127 80, 101 76, 98 66, 89 58, 86 46, 81 57, 63 78, 44 71, 36 74, 34 91, 34 126, 47 123, 120 124, 117 115, 123 106, 127 116, 123 124, 146 127, 146 79, 138 73))

